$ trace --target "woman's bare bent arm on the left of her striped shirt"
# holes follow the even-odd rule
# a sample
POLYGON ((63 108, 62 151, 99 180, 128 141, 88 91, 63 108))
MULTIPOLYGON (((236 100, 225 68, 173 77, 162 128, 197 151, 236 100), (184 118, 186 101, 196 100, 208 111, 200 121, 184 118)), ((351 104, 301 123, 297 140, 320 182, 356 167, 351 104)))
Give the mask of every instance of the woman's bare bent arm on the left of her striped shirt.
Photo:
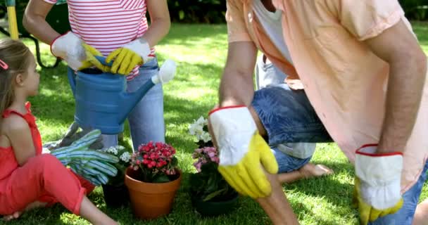
POLYGON ((60 36, 46 22, 46 15, 51 11, 52 6, 43 0, 30 0, 23 18, 25 29, 46 44, 51 44, 56 37, 60 36))

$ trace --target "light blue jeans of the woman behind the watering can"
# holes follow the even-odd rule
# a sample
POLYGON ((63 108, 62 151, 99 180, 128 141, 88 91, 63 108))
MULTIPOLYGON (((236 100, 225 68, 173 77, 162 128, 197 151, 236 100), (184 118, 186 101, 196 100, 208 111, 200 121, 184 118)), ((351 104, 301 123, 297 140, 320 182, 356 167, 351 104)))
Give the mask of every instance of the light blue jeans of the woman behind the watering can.
MULTIPOLYGON (((158 60, 153 59, 141 65, 139 75, 127 82, 127 92, 139 89, 146 81, 159 71, 158 60)), ((162 84, 156 84, 139 101, 134 110, 128 115, 134 151, 141 143, 149 141, 165 142, 165 121, 163 119, 163 89, 162 84)), ((104 147, 117 146, 117 135, 103 134, 104 147)))

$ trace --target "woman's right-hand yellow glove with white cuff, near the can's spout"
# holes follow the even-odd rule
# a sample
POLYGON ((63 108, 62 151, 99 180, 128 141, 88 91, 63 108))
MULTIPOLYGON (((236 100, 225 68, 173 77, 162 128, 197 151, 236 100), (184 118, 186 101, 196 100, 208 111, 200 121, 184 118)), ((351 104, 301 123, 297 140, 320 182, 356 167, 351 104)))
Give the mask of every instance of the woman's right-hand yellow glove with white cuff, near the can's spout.
POLYGON ((143 38, 131 41, 122 48, 112 51, 106 58, 106 63, 113 61, 111 72, 120 75, 129 75, 137 65, 142 65, 152 60, 150 46, 143 38))

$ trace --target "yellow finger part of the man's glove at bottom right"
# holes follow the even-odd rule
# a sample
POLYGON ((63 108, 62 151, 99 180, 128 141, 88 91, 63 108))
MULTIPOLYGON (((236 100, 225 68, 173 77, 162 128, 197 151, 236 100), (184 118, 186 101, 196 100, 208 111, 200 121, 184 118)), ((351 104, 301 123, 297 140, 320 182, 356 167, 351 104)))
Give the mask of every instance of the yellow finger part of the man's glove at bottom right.
POLYGON ((394 207, 387 208, 386 210, 376 210, 361 198, 360 179, 358 177, 355 177, 354 183, 353 206, 360 212, 361 225, 367 225, 369 222, 375 221, 377 218, 384 217, 387 214, 394 214, 403 207, 403 199, 401 198, 394 207))

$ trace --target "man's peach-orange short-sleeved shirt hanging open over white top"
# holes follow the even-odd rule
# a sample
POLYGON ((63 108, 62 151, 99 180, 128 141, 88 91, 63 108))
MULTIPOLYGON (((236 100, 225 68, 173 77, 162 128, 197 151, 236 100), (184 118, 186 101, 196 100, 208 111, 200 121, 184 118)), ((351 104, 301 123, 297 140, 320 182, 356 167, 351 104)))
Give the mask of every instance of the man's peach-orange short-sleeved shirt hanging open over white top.
MULTIPOLYGON (((284 39, 294 66, 265 34, 253 0, 227 0, 229 42, 253 41, 289 75, 287 84, 305 89, 310 103, 339 148, 353 163, 355 150, 378 143, 385 113, 389 65, 363 43, 403 20, 396 0, 272 0, 283 11, 284 39)), ((427 76, 428 77, 428 76, 427 76)), ((424 81, 427 84, 427 81, 424 81)), ((402 192, 419 178, 428 158, 428 88, 403 150, 402 192)))

